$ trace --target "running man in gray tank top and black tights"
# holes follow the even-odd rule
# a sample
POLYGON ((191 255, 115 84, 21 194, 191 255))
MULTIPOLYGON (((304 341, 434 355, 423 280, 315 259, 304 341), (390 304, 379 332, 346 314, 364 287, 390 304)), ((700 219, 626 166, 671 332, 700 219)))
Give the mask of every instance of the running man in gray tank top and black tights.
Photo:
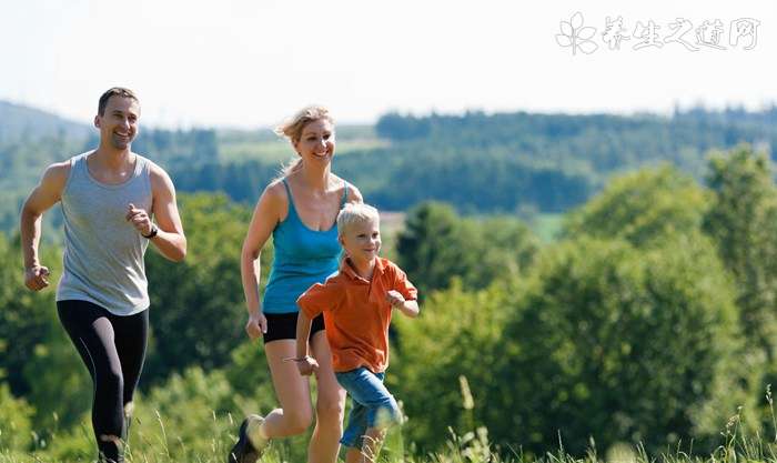
POLYGON ((103 93, 94 117, 98 149, 49 165, 21 211, 24 284, 40 291, 49 285, 49 270, 38 258, 41 217, 57 202, 62 208, 57 310, 94 382, 92 425, 99 459, 110 463, 124 461, 132 394, 145 358, 143 255, 149 242, 172 261, 186 255, 170 177, 130 149, 139 118, 131 90, 103 93))

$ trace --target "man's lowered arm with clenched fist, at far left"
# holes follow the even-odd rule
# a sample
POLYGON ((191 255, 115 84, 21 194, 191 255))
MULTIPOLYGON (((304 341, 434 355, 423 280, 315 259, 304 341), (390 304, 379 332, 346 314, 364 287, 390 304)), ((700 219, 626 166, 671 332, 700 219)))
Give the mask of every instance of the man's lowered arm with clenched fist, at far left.
POLYGON ((41 235, 41 218, 61 198, 70 174, 70 161, 49 165, 21 208, 21 252, 24 259, 24 285, 40 291, 49 285, 49 269, 41 265, 38 246, 41 235))

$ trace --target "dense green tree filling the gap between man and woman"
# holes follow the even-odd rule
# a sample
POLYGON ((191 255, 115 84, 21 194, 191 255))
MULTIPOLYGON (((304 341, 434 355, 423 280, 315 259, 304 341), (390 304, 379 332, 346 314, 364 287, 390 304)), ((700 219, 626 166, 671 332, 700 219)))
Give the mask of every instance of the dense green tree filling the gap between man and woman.
MULTIPOLYGON (((155 252, 147 256, 152 338, 145 374, 151 382, 189 365, 223 366, 245 335, 240 253, 251 211, 224 195, 183 195, 180 203, 186 259, 173 263, 155 252)), ((264 279, 271 259, 270 246, 262 254, 264 279)))

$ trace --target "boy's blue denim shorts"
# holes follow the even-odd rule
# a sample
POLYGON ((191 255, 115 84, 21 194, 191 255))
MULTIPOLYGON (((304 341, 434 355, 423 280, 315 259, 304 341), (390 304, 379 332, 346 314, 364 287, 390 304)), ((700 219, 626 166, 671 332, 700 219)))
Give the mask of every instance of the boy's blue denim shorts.
POLYGON ((387 427, 402 422, 400 407, 383 385, 384 373, 373 373, 365 368, 335 373, 340 385, 353 401, 349 425, 340 443, 349 447, 362 447, 369 427, 387 427))

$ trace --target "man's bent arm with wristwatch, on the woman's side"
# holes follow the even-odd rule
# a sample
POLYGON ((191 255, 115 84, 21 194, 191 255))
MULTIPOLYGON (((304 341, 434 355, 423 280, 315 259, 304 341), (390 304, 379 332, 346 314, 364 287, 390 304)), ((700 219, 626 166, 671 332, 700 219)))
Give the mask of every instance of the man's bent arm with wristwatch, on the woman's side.
MULTIPOLYGON (((158 224, 157 235, 151 242, 167 259, 180 262, 186 256, 186 236, 183 234, 181 217, 175 203, 175 187, 170 175, 157 164, 151 164, 151 190, 153 192, 153 212, 158 224)), ((131 211, 132 212, 132 211, 131 211)), ((153 231, 151 219, 133 222, 138 231, 148 235, 153 231)))

